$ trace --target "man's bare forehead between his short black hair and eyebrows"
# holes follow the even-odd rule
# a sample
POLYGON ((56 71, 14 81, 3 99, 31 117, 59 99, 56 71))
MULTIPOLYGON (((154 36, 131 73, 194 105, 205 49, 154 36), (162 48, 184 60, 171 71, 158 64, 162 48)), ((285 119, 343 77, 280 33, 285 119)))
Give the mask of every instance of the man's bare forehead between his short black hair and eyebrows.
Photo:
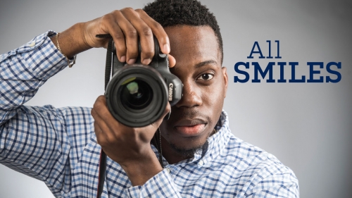
POLYGON ((202 61, 216 61, 220 65, 220 50, 213 29, 209 26, 177 25, 165 27, 170 39, 170 54, 176 66, 196 65, 202 61))

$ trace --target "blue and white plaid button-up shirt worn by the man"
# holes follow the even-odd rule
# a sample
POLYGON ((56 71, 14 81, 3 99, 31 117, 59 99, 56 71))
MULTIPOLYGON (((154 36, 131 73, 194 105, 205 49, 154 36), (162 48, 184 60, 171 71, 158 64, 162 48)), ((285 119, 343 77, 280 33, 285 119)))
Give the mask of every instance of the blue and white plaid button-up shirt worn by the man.
MULTIPOLYGON (((0 55, 0 162, 46 183, 55 197, 96 197, 101 147, 90 108, 23 106, 67 60, 46 32, 0 55)), ((132 186, 107 159, 102 197, 299 197, 298 180, 272 154, 230 132, 222 111, 208 149, 132 186)), ((153 145, 153 151, 158 154, 153 145)))

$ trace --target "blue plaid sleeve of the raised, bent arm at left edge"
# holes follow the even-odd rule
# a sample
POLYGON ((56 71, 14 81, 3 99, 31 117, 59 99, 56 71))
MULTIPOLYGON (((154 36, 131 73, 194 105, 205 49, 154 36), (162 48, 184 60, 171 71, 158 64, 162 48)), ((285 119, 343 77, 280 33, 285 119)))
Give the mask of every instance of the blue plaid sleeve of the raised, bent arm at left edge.
POLYGON ((43 180, 57 195, 70 182, 70 142, 65 111, 23 106, 39 87, 68 65, 45 32, 0 55, 0 163, 43 180))

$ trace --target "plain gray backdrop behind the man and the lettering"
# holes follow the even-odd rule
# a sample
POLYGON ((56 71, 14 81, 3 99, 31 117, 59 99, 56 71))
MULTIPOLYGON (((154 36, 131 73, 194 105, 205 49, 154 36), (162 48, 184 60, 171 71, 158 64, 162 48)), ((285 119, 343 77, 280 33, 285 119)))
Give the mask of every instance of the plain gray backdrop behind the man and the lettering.
MULTIPOLYGON (((0 53, 20 47, 46 30, 61 32, 114 9, 141 8, 149 1, 1 1, 0 53)), ((301 197, 351 197, 352 2, 202 1, 218 19, 224 41, 229 87, 224 109, 237 137, 277 156, 299 180, 301 197), (340 82, 234 83, 234 64, 247 59, 258 41, 280 41, 282 59, 297 61, 296 75, 309 76, 306 63, 342 63, 340 82)), ((272 44, 272 55, 276 46, 272 44)), ((92 106, 103 94, 105 49, 77 56, 77 64, 51 78, 27 105, 92 106)), ((279 70, 274 67, 274 78, 279 70)), ((249 70, 251 79, 253 73, 249 70)), ((329 75, 325 69, 322 76, 329 75)), ((289 79, 291 73, 285 71, 289 79)), ((318 75, 317 75, 318 76, 318 75)), ((335 78, 335 75, 330 75, 335 78)), ((240 75, 243 78, 243 75, 240 75)), ((318 77, 317 77, 318 78, 318 77)), ((52 197, 44 182, 0 166, 0 197, 52 197)))

